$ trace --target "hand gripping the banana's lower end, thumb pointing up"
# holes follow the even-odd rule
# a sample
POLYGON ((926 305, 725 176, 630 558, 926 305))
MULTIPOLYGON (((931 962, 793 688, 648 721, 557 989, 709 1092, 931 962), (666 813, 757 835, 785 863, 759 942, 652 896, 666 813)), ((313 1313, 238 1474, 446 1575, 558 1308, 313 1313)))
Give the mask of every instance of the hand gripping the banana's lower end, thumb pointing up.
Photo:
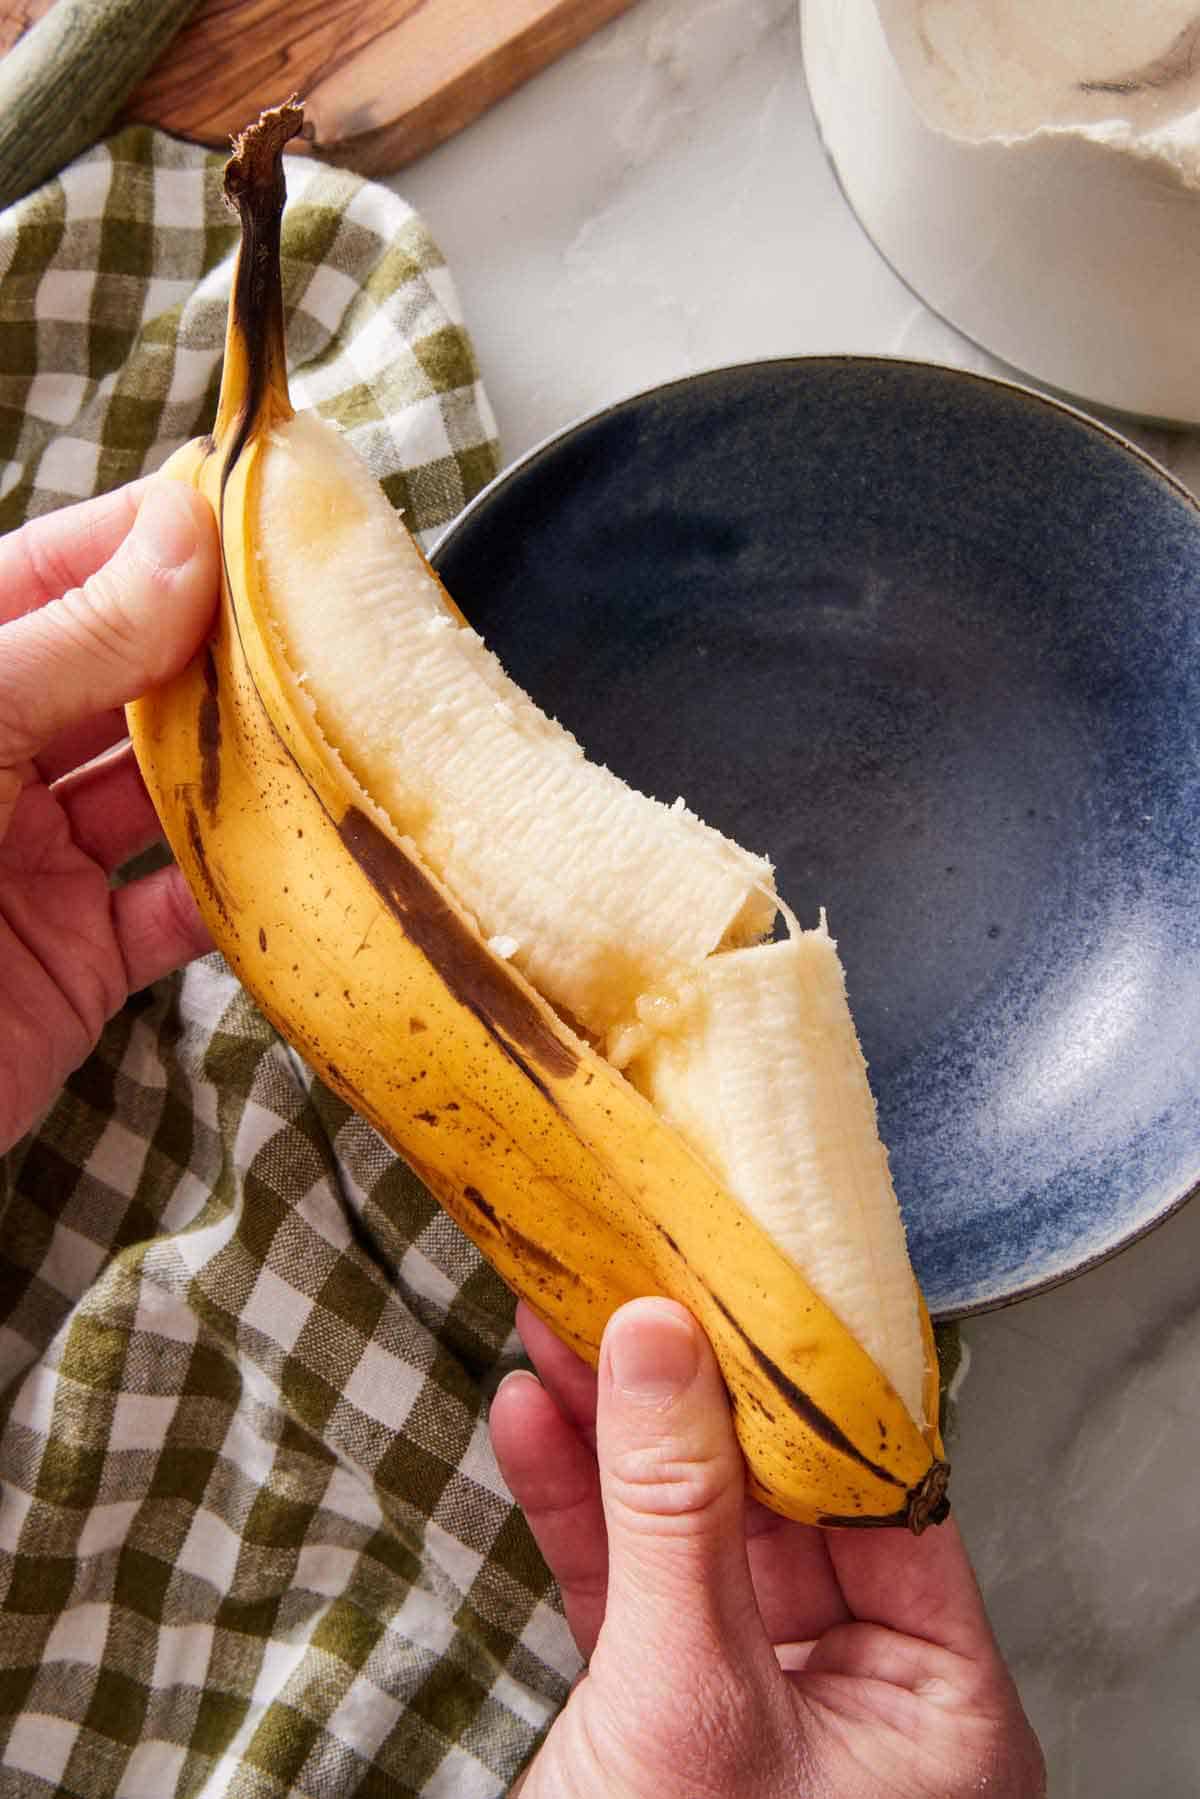
POLYGON ((599 1378, 527 1308, 491 1407, 588 1669, 522 1799, 1040 1799, 1042 1752, 954 1522, 815 1531, 743 1497, 712 1351, 621 1308, 599 1378))

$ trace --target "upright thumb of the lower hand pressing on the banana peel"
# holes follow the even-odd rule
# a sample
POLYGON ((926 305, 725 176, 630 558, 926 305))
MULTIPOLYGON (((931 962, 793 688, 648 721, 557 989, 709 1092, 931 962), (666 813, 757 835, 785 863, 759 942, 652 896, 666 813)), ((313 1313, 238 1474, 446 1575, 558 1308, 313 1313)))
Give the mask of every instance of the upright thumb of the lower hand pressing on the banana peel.
POLYGON ((698 1657, 770 1651, 745 1549, 743 1464, 712 1351, 691 1313, 637 1299, 601 1346, 596 1446, 608 1526, 597 1653, 691 1684, 698 1657), (673 1669, 673 1673, 671 1673, 673 1669))

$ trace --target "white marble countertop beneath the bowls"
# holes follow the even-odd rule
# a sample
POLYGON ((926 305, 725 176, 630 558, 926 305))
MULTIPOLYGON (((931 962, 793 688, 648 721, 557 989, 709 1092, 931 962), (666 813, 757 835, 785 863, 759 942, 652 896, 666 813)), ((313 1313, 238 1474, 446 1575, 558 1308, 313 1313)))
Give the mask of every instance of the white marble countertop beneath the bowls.
MULTIPOLYGON (((639 0, 392 185, 450 259, 509 461, 727 362, 995 367, 849 214, 793 0, 639 0)), ((1132 435, 1200 480, 1200 439, 1132 435)), ((966 1338, 957 1513, 1051 1792, 1200 1794, 1200 1205, 966 1338)))

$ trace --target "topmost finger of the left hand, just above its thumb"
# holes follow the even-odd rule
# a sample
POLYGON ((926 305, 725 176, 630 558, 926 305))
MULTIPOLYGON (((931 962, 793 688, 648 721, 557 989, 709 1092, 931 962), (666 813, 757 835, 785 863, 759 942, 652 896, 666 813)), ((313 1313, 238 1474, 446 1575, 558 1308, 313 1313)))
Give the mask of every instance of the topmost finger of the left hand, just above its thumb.
POLYGON ((146 480, 31 518, 0 538, 0 624, 83 586, 128 536, 146 480))

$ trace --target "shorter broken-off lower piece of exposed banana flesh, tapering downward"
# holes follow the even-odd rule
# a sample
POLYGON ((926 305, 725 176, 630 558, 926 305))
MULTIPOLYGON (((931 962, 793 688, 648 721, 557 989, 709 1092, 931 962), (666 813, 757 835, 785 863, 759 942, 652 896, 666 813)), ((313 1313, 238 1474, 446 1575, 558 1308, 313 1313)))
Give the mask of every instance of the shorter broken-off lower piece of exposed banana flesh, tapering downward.
POLYGON ((824 928, 709 957, 642 1007, 626 1074, 802 1270, 921 1416, 903 1222, 846 977, 824 928))

